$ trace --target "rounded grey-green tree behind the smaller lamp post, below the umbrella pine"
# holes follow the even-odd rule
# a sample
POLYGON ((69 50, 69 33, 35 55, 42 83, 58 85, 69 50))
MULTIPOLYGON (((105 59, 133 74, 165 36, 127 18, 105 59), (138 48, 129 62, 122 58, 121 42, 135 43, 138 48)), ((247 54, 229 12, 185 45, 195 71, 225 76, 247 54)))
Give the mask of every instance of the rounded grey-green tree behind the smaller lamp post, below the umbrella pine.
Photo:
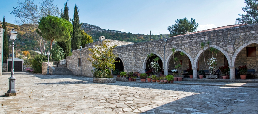
POLYGON ((52 50, 50 50, 50 53, 52 53, 52 60, 54 61, 59 61, 59 60, 62 60, 64 59, 64 51, 63 49, 58 46, 58 45, 54 45, 52 50))

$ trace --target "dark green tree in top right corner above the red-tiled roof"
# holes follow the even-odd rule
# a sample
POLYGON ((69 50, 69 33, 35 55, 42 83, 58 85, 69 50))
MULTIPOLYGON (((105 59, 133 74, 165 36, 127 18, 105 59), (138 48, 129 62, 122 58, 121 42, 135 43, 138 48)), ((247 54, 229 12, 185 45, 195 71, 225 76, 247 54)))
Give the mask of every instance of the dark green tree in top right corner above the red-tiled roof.
POLYGON ((245 7, 242 7, 245 14, 238 14, 241 18, 236 18, 235 24, 253 24, 258 23, 258 1, 257 0, 245 0, 245 7))

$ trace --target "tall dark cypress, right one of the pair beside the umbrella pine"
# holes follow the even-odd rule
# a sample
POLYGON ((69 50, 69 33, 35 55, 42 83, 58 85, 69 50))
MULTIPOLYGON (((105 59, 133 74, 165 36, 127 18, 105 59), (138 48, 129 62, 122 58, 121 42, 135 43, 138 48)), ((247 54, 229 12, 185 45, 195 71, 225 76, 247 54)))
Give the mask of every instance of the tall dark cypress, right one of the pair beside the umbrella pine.
POLYGON ((72 36, 72 49, 77 50, 81 45, 81 25, 79 20, 79 10, 77 5, 74 6, 74 14, 73 14, 73 36, 72 36))

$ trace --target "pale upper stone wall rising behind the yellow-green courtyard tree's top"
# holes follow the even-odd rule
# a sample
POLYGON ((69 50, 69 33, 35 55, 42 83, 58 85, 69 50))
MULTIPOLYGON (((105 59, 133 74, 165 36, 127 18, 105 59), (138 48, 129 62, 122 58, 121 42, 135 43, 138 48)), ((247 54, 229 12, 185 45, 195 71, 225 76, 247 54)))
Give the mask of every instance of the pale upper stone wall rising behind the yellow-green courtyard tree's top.
MULTIPOLYGON (((118 41, 118 40, 110 40, 110 39, 104 39, 102 41, 110 41, 110 43, 108 43, 109 46, 122 46, 122 45, 127 45, 127 44, 134 44, 132 42, 125 42, 125 41, 118 41)), ((92 42, 90 44, 85 44, 85 47, 89 47, 89 46, 95 46, 95 45, 100 45, 102 41, 96 41, 96 42, 92 42)))

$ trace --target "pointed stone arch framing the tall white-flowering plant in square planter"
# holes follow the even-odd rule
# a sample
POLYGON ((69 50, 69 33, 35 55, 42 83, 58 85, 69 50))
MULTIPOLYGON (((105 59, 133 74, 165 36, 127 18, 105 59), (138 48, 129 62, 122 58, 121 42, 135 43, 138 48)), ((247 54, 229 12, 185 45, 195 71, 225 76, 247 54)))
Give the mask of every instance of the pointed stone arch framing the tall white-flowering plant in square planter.
MULTIPOLYGON (((219 50, 220 52, 222 52, 222 53, 226 56, 226 58, 227 58, 227 60, 228 60, 228 64, 229 64, 229 66, 230 66, 230 64, 231 64, 231 59, 230 59, 230 56, 228 55, 228 53, 227 53, 226 51, 224 51, 222 48, 220 48, 219 46, 216 46, 216 45, 210 45, 210 48, 215 48, 215 49, 219 50)), ((207 47, 204 47, 204 51, 206 51, 207 49, 208 49, 208 46, 207 46, 207 47)), ((200 50, 199 53, 197 54, 196 58, 194 59, 194 65, 193 65, 193 66, 194 66, 195 68, 198 68, 198 61, 199 61, 200 56, 202 55, 202 53, 203 53, 203 51, 200 50)), ((232 66, 232 65, 231 65, 231 66, 232 66)))

